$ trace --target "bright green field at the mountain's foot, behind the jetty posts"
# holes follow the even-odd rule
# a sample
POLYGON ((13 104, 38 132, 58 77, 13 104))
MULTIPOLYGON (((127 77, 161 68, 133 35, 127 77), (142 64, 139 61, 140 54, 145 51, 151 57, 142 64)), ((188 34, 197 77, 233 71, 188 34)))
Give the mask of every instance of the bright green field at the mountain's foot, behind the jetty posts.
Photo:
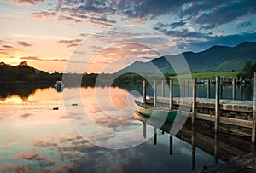
MULTIPOLYGON (((236 78, 236 75, 239 72, 198 72, 198 73, 191 73, 192 78, 212 78, 212 77, 216 77, 216 76, 220 76, 220 77, 232 77, 232 78, 236 78)), ((171 79, 177 79, 177 76, 172 76, 170 77, 171 79)), ((178 78, 190 78, 189 74, 182 74, 182 75, 178 75, 178 78)))

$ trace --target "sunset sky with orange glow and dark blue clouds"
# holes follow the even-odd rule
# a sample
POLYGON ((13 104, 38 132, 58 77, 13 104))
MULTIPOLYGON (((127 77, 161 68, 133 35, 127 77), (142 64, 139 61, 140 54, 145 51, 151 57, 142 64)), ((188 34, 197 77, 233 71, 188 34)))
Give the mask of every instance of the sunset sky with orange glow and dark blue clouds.
POLYGON ((116 72, 134 61, 256 41, 254 0, 0 0, 0 61, 116 72))

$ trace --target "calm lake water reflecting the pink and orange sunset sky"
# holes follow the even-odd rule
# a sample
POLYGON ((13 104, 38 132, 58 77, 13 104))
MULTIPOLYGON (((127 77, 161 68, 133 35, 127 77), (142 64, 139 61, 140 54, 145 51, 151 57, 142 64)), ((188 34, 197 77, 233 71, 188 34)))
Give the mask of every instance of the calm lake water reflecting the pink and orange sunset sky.
MULTIPOLYGON (((0 91, 0 171, 198 172, 203 165, 221 164, 251 151, 249 141, 219 136, 216 158, 214 148, 196 144, 207 130, 192 133, 189 126, 172 137, 172 149, 169 134, 162 130, 156 130, 155 141, 152 124, 147 124, 144 138, 143 122, 134 118, 131 104, 135 98, 141 100, 137 86, 57 92, 51 87, 1 84, 0 91), (193 145, 192 136, 197 136, 193 145)), ((212 142, 216 136, 205 139, 212 142)))

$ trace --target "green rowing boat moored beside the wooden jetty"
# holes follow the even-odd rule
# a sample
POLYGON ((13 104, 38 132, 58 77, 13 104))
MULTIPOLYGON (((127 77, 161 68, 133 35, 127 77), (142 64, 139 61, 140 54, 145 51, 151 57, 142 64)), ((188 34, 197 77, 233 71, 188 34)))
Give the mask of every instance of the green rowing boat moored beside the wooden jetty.
POLYGON ((154 108, 148 105, 143 104, 140 101, 134 101, 134 105, 137 109, 137 112, 142 114, 145 117, 153 117, 158 119, 165 119, 168 122, 179 121, 180 111, 168 111, 166 109, 154 108))

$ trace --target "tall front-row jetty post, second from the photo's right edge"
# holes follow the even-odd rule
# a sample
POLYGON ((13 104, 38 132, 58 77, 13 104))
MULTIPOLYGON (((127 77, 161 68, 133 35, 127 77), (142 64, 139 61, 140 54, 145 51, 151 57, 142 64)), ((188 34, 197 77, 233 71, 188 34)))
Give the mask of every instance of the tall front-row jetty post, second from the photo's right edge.
POLYGON ((218 121, 219 121, 219 76, 216 78, 216 90, 215 90, 215 124, 214 132, 218 133, 218 121))

